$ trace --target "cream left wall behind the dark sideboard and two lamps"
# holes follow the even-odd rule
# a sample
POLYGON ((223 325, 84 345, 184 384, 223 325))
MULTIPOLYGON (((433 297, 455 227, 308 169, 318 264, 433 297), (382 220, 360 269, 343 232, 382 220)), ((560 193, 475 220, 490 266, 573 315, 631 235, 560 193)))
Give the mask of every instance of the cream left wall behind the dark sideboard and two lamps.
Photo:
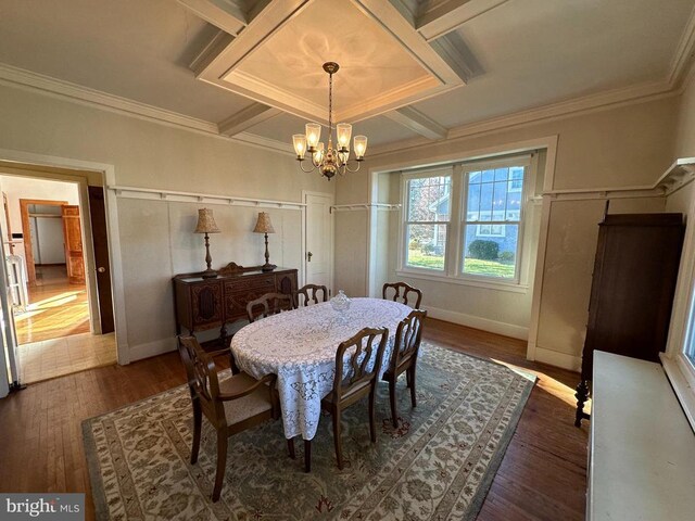
MULTIPOLYGON (((334 190, 317 174, 299 171, 291 154, 23 89, 0 87, 0 113, 1 148, 113 165, 117 186, 298 203, 302 190, 334 190)), ((116 335, 130 359, 176 346, 172 277, 205 267, 202 237, 192 233, 202 206, 116 198, 127 336, 118 329, 116 335)), ((211 207, 222 230, 211 237, 213 266, 263 264, 263 237, 251 233, 258 208, 211 207)), ((277 231, 269 238, 270 260, 300 268, 301 212, 261 209, 277 231)))

